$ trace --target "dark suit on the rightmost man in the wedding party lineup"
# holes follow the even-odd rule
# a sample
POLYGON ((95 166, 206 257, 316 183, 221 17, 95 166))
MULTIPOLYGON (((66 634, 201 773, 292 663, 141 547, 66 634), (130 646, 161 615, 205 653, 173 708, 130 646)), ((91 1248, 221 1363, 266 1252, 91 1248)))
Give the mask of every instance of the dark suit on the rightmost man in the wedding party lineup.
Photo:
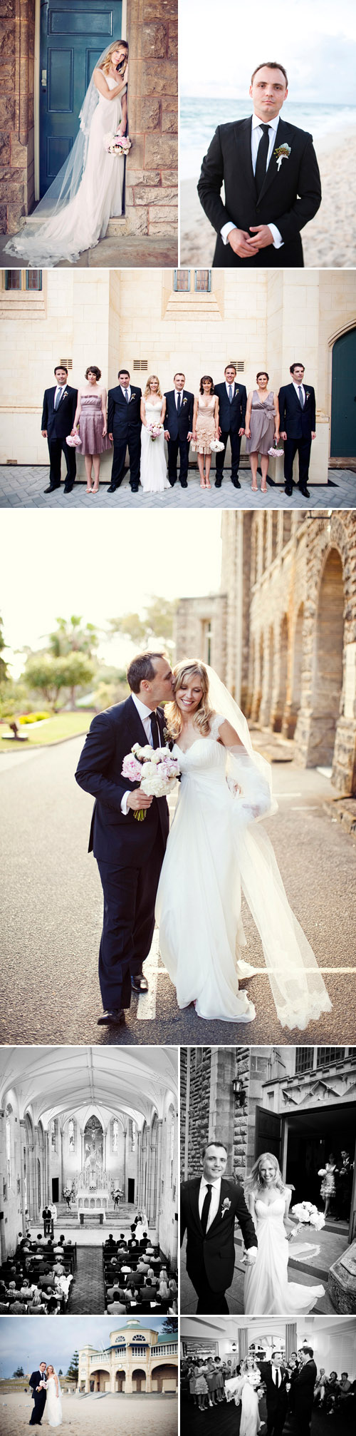
POLYGON ((280 431, 284 439, 284 478, 293 482, 293 461, 299 454, 299 487, 304 488, 309 478, 312 432, 316 431, 316 395, 310 383, 304 383, 304 406, 301 408, 294 383, 284 383, 278 393, 280 431))

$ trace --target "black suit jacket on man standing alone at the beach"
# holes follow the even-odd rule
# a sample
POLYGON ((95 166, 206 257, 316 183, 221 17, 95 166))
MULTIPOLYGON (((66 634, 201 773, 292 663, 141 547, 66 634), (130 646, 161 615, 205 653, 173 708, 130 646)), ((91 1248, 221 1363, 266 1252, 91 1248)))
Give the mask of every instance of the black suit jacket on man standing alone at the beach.
POLYGON ((303 264, 300 230, 313 220, 322 201, 313 135, 289 125, 284 119, 278 121, 276 145, 257 197, 251 161, 251 123, 250 116, 230 125, 218 125, 202 161, 198 195, 218 234, 214 264, 224 267, 224 260, 227 263, 227 248, 220 231, 231 220, 237 228, 247 231, 251 224, 277 224, 283 238, 281 248, 274 250, 268 246, 251 260, 240 260, 234 254, 233 260, 237 264, 254 267, 258 264, 263 269, 274 264, 300 266, 303 264), (290 145, 290 155, 277 169, 276 149, 283 144, 290 145), (221 200, 222 182, 225 204, 221 200))

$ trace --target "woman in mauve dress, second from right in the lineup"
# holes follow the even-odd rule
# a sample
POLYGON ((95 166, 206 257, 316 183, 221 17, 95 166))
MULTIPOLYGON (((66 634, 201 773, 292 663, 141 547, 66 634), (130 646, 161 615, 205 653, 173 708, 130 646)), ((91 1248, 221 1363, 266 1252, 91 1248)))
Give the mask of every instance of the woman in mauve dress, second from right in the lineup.
POLYGON ((253 493, 257 494, 257 464, 261 455, 261 494, 267 494, 268 449, 280 437, 278 395, 267 389, 268 373, 256 375, 257 389, 248 393, 245 408, 245 452, 250 454, 253 493))

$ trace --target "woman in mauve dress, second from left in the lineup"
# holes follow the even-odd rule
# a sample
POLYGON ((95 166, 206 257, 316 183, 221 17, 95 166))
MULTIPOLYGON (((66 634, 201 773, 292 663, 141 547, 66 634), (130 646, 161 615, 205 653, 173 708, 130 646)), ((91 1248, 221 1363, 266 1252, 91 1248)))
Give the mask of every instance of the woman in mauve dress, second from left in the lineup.
MULTIPOLYGON (((98 369, 96 363, 92 363, 85 370, 85 378, 86 385, 78 392, 72 434, 76 434, 79 426, 79 438, 82 439, 80 454, 83 454, 86 471, 86 493, 98 494, 100 457, 111 448, 106 426, 106 389, 100 385, 102 370, 98 369)), ((70 1206, 70 1196, 66 1200, 70 1206)))

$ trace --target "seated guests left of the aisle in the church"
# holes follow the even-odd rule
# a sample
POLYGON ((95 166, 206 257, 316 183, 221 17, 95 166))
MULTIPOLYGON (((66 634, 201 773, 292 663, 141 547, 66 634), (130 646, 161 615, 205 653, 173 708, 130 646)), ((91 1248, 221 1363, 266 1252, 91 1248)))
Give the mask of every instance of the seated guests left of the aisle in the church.
POLYGON ((57 1315, 66 1311, 76 1269, 76 1245, 59 1238, 19 1232, 14 1256, 0 1268, 0 1313, 57 1315))

